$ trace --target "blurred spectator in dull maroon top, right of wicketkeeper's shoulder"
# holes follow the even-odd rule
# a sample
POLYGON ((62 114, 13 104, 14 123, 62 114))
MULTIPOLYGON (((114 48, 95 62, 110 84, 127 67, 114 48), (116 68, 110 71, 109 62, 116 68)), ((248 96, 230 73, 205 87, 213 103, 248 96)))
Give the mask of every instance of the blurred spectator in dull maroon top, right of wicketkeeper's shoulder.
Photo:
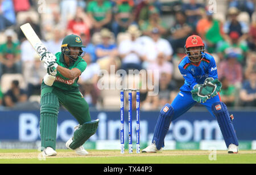
POLYGON ((241 88, 242 66, 237 61, 236 53, 229 53, 228 57, 218 65, 218 78, 226 77, 230 84, 236 88, 241 88))

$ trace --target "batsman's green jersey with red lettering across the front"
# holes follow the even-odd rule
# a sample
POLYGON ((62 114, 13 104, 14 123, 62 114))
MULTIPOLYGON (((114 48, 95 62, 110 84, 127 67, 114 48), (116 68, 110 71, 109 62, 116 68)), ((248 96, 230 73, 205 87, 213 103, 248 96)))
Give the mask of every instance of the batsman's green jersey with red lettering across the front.
MULTIPOLYGON (((77 68, 81 71, 81 73, 86 69, 87 63, 82 59, 81 57, 77 58, 77 61, 72 62, 71 65, 67 66, 64 61, 64 54, 61 52, 58 52, 55 54, 57 58, 57 64, 61 67, 65 67, 67 69, 73 69, 77 68)), ((79 77, 75 79, 68 79, 65 78, 63 75, 60 74, 59 71, 57 71, 55 82, 52 84, 53 87, 57 87, 63 91, 79 91, 79 85, 77 84, 79 77)), ((42 82, 41 89, 48 87, 44 81, 42 82)))

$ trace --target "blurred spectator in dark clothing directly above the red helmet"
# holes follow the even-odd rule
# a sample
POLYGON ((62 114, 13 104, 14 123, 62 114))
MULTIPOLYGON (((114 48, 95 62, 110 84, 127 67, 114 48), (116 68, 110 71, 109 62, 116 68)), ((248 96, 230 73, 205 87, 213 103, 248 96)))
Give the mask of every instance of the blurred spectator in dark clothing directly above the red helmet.
POLYGON ((201 18, 201 11, 204 10, 204 5, 196 3, 195 0, 189 0, 189 3, 184 3, 181 7, 181 11, 184 11, 188 18, 188 23, 192 24, 193 30, 196 28, 196 24, 201 18))

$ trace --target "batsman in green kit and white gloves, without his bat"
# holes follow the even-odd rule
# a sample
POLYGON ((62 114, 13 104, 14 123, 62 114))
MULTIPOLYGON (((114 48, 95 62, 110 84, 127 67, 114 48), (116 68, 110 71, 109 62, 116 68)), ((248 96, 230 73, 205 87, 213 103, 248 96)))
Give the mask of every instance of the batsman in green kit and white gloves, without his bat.
POLYGON ((57 155, 55 150, 59 104, 79 122, 73 137, 65 144, 67 148, 75 150, 78 155, 87 155, 88 152, 82 145, 97 131, 99 120, 91 121, 89 106, 77 84, 79 76, 87 66, 82 59, 84 48, 79 36, 68 35, 63 39, 61 52, 55 55, 45 52, 42 55, 41 60, 47 74, 55 78, 52 86, 47 86, 44 81, 41 85, 40 136, 42 153, 45 156, 57 155))

